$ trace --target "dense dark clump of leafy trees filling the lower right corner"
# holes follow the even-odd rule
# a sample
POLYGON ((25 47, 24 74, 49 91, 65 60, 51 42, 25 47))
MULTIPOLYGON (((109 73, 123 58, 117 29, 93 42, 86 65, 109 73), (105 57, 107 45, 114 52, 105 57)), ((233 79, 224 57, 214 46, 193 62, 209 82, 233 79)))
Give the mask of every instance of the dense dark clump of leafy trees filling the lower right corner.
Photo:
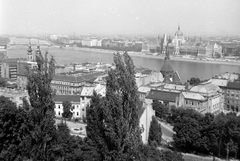
MULTIPOLYGON (((177 109, 173 139, 186 151, 213 154, 218 157, 239 158, 240 118, 236 114, 205 114, 177 109)), ((176 114, 173 114, 176 115, 176 114)))

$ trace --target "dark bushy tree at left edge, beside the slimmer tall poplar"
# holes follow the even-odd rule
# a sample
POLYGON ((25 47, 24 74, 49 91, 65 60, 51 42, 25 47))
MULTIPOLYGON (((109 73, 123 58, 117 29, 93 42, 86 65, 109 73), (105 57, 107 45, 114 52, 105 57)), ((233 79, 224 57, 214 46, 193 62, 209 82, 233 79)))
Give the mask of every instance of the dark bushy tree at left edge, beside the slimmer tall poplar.
POLYGON ((0 160, 23 158, 22 142, 26 133, 27 113, 9 99, 0 97, 0 160))

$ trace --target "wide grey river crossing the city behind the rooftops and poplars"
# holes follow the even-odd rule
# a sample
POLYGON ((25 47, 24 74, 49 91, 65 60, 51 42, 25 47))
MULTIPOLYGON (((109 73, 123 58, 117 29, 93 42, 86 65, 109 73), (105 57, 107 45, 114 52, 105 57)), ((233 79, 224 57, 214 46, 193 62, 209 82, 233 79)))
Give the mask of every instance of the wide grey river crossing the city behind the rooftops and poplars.
MULTIPOLYGON (((33 46, 35 51, 36 46, 33 46)), ((81 51, 72 49, 61 49, 61 48, 44 48, 42 50, 48 50, 52 54, 57 64, 70 64, 72 62, 106 62, 112 63, 113 55, 110 53, 96 52, 96 51, 81 51)), ((8 56, 10 58, 26 57, 27 46, 15 46, 8 49, 8 56)), ((135 66, 146 67, 149 69, 160 70, 164 60, 156 59, 154 57, 140 57, 132 56, 135 66)), ((174 70, 178 71, 181 82, 186 82, 191 77, 199 77, 200 79, 211 78, 216 74, 223 72, 240 72, 239 65, 231 64, 216 64, 216 63, 202 63, 194 61, 178 61, 170 60, 174 70)))

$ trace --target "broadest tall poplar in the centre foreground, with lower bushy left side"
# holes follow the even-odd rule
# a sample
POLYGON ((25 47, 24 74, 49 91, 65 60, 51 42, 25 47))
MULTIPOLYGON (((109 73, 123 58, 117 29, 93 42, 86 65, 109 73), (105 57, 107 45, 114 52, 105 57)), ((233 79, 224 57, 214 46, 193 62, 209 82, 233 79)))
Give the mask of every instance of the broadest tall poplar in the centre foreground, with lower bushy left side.
POLYGON ((115 69, 108 73, 106 97, 94 92, 87 108, 87 137, 100 160, 140 160, 142 144, 138 111, 140 100, 131 57, 114 54, 115 69))

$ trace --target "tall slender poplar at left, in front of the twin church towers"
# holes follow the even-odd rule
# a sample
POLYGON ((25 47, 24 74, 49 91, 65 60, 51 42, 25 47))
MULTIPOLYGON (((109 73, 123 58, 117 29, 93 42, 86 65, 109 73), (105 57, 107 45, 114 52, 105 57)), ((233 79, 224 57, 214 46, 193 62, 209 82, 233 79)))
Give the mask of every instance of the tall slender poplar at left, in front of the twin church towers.
MULTIPOLYGON (((50 160, 51 149, 56 142, 54 121, 54 102, 50 83, 55 72, 55 61, 48 53, 36 53, 37 66, 29 70, 27 90, 32 110, 29 112, 28 145, 29 158, 33 160, 50 160)), ((53 159, 54 160, 54 159, 53 159)))

